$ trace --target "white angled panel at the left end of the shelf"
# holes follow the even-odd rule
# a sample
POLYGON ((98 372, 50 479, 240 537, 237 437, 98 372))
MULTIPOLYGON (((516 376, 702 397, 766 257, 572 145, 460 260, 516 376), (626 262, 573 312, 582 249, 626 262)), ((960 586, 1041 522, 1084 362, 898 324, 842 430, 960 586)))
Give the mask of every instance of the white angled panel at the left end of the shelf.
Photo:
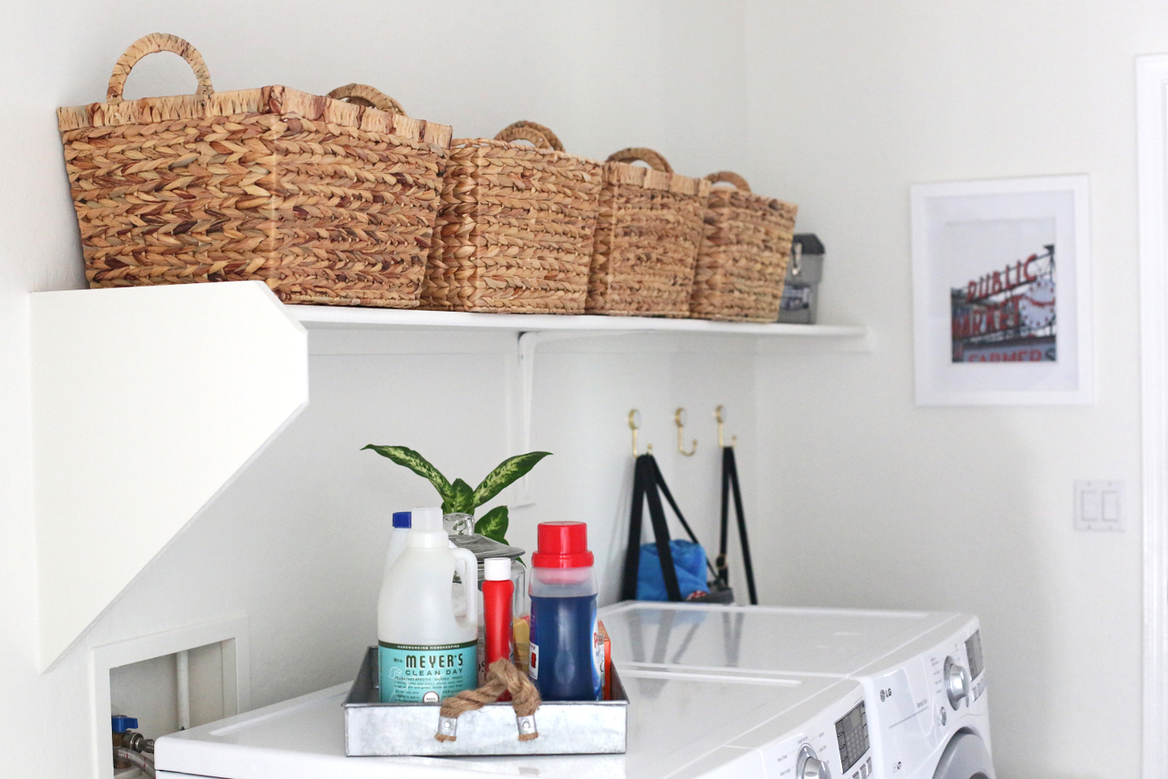
POLYGON ((40 662, 57 658, 308 401, 260 281, 32 295, 40 662))

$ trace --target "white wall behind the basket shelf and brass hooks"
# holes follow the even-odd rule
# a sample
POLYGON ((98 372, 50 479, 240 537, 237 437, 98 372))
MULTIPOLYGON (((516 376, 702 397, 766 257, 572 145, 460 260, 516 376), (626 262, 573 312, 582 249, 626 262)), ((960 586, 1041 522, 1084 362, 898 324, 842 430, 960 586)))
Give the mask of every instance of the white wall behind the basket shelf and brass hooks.
MULTIPOLYGON (((570 151, 604 158, 652 146, 677 169, 701 175, 742 164, 744 14, 743 2, 665 0, 4 5, 0 728, 23 740, 0 773, 92 775, 90 646, 246 613, 253 705, 349 679, 374 638, 389 513, 432 501, 425 482, 359 447, 408 444, 468 480, 514 453, 514 342, 506 336, 432 356, 313 356, 305 413, 78 646, 36 674, 27 293, 83 286, 55 109, 103 99, 121 50, 162 30, 200 49, 220 90, 283 83, 324 93, 367 82, 411 114, 453 125, 456 135, 493 135, 534 119, 570 151)), ((193 84, 181 61, 160 55, 134 71, 127 93, 193 84)), ((646 440, 658 443, 662 467, 688 482, 679 498, 695 513, 707 508, 707 520, 695 523, 712 537, 714 405, 725 403, 738 430, 753 425, 752 356, 712 346, 693 354, 642 338, 541 347, 533 437, 556 454, 537 471, 536 506, 515 512, 513 538, 530 548, 538 520, 584 519, 598 556, 619 561, 617 517, 627 496, 618 491, 630 468, 625 415, 633 405, 645 413, 646 440), (668 454, 675 405, 690 406, 703 441, 686 461, 668 454)), ((605 577, 607 599, 617 585, 605 577)))

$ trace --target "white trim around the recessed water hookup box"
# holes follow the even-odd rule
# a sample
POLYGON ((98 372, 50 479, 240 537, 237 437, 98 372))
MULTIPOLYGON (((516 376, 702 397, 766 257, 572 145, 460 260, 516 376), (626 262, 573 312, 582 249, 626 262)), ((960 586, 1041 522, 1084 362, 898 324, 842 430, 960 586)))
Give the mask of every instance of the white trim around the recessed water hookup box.
POLYGON ((175 654, 208 644, 223 644, 224 716, 251 709, 251 640, 246 614, 152 633, 90 649, 93 774, 113 779, 110 759, 110 670, 132 662, 175 654))

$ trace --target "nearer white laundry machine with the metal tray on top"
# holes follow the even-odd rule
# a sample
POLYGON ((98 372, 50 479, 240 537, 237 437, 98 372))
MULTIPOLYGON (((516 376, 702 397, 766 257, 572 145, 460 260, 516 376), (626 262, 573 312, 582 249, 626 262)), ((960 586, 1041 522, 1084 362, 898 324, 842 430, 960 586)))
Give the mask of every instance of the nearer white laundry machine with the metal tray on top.
MULTIPOLYGON (((164 736, 161 779, 369 779, 531 774, 611 777, 840 777, 872 765, 864 690, 826 675, 621 672, 630 698, 626 754, 501 758, 347 758, 348 684, 164 736), (841 754, 837 724, 861 753, 841 754), (867 761, 867 763, 864 763, 867 761)), ((473 716, 473 715, 467 715, 473 716)), ((536 712, 538 719, 538 712, 536 712)), ((436 723, 437 724, 437 723, 436 723)), ((867 775, 867 773, 865 773, 867 775)))

